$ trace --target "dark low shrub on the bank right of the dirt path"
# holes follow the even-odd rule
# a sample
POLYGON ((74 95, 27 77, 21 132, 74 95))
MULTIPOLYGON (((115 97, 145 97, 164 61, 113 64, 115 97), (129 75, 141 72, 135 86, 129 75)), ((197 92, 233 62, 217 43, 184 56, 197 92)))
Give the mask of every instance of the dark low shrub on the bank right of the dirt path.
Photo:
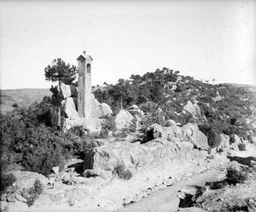
POLYGON ((237 183, 244 183, 247 179, 247 173, 235 170, 233 168, 227 169, 227 183, 230 185, 236 185, 237 183))

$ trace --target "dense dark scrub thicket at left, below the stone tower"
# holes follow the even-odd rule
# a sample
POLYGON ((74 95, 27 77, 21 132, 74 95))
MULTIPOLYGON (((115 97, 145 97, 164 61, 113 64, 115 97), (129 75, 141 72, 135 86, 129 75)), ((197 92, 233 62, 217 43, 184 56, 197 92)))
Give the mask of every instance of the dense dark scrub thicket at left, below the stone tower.
POLYGON ((48 175, 52 167, 63 167, 64 159, 97 145, 81 127, 58 131, 49 101, 46 97, 27 110, 17 110, 17 116, 0 116, 2 172, 17 164, 19 169, 48 175))

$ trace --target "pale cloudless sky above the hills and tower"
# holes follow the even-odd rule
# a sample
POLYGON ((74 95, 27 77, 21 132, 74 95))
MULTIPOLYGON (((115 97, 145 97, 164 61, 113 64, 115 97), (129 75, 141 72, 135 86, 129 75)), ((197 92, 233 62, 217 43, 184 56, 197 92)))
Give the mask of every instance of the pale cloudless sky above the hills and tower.
POLYGON ((0 89, 49 88, 44 68, 84 46, 92 85, 163 67, 256 85, 256 1, 0 1, 0 89))

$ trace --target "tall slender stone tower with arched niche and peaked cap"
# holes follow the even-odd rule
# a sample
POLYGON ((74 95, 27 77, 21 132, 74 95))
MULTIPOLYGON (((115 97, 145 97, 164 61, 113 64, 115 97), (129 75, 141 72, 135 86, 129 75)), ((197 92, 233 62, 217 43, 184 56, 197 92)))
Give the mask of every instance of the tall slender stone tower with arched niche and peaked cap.
POLYGON ((90 55, 80 55, 78 58, 78 115, 81 118, 91 117, 91 65, 93 59, 90 55))

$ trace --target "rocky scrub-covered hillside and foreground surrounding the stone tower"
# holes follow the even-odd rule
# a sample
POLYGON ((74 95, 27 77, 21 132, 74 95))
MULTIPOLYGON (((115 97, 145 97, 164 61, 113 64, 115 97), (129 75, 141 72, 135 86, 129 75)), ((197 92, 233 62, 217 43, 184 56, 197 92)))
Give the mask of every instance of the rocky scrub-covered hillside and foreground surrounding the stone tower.
POLYGON ((1 114, 2 211, 255 211, 253 91, 164 68, 93 94, 100 132, 57 130, 50 95, 1 114))

